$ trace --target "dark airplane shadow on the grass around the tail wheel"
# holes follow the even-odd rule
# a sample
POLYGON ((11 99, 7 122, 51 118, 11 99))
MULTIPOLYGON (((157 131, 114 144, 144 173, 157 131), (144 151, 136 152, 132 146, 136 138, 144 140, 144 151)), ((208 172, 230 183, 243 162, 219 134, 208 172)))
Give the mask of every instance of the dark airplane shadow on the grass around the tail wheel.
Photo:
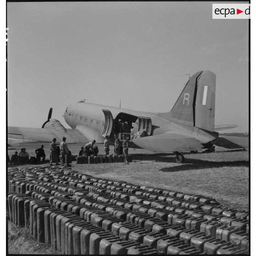
MULTIPOLYGON (((133 161, 159 161, 159 162, 167 162, 167 163, 176 163, 175 156, 173 157, 165 157, 170 156, 170 154, 138 154, 133 155, 133 161)), ((172 155, 171 155, 172 156, 172 155)), ((198 169, 206 169, 206 168, 220 168, 220 167, 249 167, 249 161, 207 161, 200 159, 189 159, 186 158, 185 164, 178 164, 178 166, 173 167, 165 167, 159 169, 162 172, 179 172, 179 171, 187 171, 187 170, 198 170, 198 169)))

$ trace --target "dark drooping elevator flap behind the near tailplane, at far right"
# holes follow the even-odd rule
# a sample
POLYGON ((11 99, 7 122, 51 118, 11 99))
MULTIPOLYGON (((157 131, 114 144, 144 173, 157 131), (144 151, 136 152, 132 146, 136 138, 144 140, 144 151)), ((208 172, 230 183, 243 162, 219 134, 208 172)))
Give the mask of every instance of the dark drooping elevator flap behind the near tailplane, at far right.
POLYGON ((214 144, 227 149, 249 148, 249 137, 222 136, 217 138, 214 144))

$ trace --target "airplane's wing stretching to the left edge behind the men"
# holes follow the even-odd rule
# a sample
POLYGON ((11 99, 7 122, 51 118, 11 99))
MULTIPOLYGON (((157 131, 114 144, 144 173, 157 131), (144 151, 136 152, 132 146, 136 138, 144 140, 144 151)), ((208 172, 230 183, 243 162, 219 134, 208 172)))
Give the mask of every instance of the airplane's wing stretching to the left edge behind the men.
POLYGON ((88 142, 88 139, 86 139, 78 129, 27 128, 8 126, 8 138, 11 139, 30 139, 50 142, 53 138, 56 138, 57 142, 61 142, 63 136, 67 138, 67 143, 88 142))

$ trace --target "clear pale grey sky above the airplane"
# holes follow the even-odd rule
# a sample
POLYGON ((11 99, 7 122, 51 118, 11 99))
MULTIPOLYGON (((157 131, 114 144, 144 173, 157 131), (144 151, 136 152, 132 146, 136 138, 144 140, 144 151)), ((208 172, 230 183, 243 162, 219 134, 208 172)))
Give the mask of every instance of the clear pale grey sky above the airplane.
POLYGON ((215 123, 249 130, 248 20, 213 20, 212 2, 12 2, 7 27, 9 126, 41 127, 52 107, 68 127, 82 99, 170 111, 186 74, 211 70, 215 123))

